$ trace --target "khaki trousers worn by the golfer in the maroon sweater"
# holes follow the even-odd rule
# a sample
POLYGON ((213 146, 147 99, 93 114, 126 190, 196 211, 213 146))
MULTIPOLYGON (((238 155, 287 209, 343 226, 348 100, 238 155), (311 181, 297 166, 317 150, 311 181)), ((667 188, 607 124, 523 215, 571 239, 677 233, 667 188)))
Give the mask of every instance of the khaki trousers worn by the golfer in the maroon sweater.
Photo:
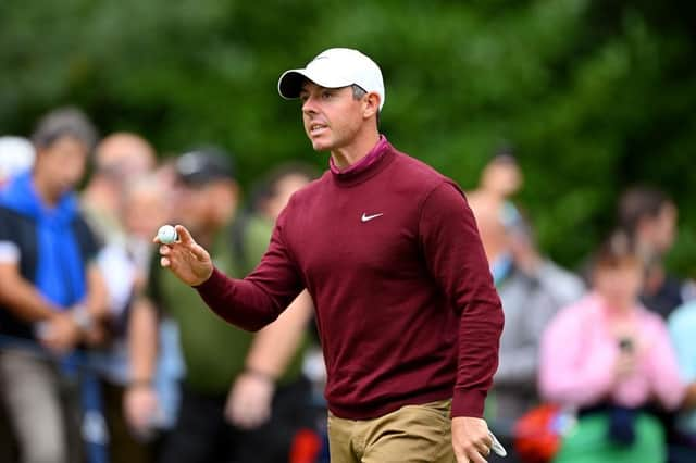
POLYGON ((451 400, 406 405, 374 420, 328 413, 331 463, 452 463, 451 400))

